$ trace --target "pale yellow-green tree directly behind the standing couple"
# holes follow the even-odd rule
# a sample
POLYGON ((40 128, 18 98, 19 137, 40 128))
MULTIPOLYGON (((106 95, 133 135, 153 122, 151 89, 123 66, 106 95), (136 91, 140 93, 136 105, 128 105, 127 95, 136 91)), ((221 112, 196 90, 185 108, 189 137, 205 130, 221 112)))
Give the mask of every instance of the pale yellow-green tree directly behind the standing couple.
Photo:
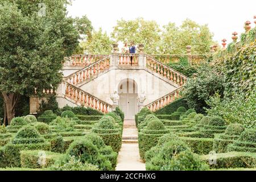
POLYGON ((156 45, 160 40, 159 25, 153 20, 137 18, 135 20, 118 20, 112 32, 115 41, 134 42, 144 44, 144 51, 152 54, 156 52, 156 45))

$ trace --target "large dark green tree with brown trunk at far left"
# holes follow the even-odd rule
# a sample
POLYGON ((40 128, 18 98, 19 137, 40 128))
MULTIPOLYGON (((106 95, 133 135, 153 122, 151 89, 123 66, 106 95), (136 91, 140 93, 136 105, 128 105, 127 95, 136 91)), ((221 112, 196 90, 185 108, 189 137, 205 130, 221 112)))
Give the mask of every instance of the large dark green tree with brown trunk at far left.
MULTIPOLYGON (((56 88, 63 58, 79 32, 67 17, 66 0, 2 0, 0 3, 0 92, 10 124, 20 95, 56 88), (43 4, 42 4, 43 3, 43 4)), ((6 119, 5 118, 5 119, 6 119)))

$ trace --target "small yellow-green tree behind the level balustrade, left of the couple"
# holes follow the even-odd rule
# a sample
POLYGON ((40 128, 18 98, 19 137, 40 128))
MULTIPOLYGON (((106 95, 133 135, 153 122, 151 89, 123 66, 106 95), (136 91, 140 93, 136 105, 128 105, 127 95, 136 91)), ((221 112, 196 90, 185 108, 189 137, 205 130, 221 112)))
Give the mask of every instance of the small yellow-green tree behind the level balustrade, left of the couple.
POLYGON ((85 42, 81 42, 81 47, 85 53, 89 54, 109 54, 112 51, 113 40, 102 32, 102 28, 98 31, 93 31, 92 37, 85 42))

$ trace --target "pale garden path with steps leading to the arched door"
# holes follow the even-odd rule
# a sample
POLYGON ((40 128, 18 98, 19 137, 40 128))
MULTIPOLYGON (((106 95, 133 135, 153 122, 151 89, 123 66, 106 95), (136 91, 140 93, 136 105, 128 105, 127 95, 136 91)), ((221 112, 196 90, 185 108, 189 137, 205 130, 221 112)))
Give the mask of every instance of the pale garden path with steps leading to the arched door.
POLYGON ((117 158, 116 171, 145 171, 139 157, 138 130, 134 120, 123 123, 122 147, 117 158))

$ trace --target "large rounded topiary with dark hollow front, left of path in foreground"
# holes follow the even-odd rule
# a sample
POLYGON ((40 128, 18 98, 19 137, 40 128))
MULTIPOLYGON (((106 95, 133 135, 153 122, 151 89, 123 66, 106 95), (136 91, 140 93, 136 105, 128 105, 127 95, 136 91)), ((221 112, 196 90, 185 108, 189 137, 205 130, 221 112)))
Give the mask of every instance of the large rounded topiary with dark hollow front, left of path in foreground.
POLYGON ((95 163, 98 158, 98 148, 89 140, 75 140, 67 150, 67 155, 75 156, 82 163, 95 163))

